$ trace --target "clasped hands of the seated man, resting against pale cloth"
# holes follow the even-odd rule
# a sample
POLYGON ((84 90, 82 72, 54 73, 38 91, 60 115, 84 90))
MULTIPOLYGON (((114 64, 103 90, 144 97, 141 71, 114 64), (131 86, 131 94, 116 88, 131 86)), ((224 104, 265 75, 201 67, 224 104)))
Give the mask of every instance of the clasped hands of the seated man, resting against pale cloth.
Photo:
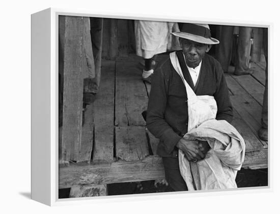
POLYGON ((184 152, 188 161, 193 162, 204 159, 210 149, 207 141, 186 140, 184 138, 179 140, 177 147, 184 152))

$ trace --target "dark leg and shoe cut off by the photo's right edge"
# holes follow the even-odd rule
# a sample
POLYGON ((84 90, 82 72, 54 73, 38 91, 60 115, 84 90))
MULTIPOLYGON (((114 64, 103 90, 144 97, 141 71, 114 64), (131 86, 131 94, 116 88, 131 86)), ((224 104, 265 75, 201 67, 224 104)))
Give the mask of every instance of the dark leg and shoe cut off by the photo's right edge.
POLYGON ((263 47, 264 56, 266 61, 265 67, 265 88, 264 88, 264 98, 263 98, 263 109, 262 109, 262 128, 259 130, 258 134, 262 140, 268 140, 268 30, 264 28, 263 33, 263 47))

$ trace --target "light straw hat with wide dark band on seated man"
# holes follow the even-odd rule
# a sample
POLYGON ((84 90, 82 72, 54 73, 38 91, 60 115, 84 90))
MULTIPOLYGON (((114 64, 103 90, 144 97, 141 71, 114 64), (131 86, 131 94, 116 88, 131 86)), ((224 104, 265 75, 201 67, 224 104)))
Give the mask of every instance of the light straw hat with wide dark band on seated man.
POLYGON ((219 44, 219 40, 211 37, 210 28, 208 24, 184 23, 181 32, 174 32, 172 34, 182 39, 188 39, 203 44, 219 44))

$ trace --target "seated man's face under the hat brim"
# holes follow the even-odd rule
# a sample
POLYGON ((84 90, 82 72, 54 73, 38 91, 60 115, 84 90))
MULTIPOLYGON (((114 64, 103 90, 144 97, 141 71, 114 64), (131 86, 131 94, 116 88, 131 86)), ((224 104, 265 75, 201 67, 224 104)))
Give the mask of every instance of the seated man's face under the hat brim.
POLYGON ((205 53, 211 48, 211 45, 193 42, 187 39, 180 39, 180 43, 186 58, 186 64, 190 68, 198 67, 205 53))

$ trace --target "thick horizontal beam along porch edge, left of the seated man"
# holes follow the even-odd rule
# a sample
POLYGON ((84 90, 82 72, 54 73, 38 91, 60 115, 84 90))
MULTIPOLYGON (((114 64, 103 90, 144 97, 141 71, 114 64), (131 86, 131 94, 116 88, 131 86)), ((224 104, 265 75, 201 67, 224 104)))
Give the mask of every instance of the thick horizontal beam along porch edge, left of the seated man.
POLYGON ((59 169, 59 189, 78 185, 101 185, 163 179, 162 158, 149 156, 143 161, 98 165, 70 165, 59 169))

